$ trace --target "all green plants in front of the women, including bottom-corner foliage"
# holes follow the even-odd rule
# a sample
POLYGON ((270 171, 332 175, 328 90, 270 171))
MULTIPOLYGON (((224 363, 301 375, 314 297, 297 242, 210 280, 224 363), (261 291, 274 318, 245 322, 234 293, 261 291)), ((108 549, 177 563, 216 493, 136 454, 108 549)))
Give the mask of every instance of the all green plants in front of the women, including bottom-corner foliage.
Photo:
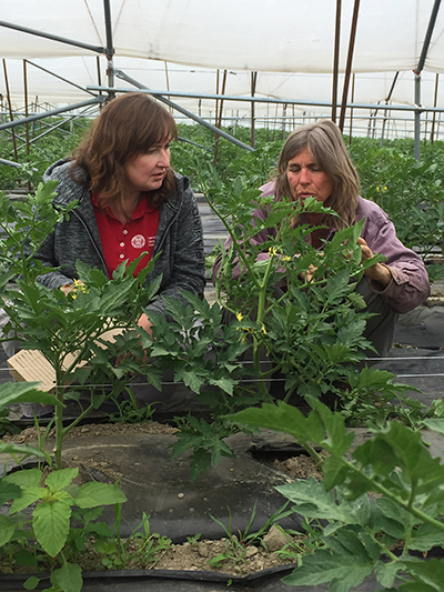
MULTIPOLYGON (((70 212, 53 210, 54 185, 51 183, 38 187, 36 193, 23 201, 11 203, 2 197, 0 258, 8 273, 1 277, 0 290, 11 317, 7 330, 13 332, 14 339, 21 340, 22 348, 42 351, 57 375, 56 395, 30 391, 29 385, 10 384, 3 402, 54 404, 56 451, 51 455, 41 446, 38 454, 43 454, 44 460, 60 473, 63 438, 89 411, 100 407, 109 397, 127 393, 131 398, 132 375, 144 374, 151 384, 160 388, 163 372, 173 369, 174 380, 182 381, 200 402, 212 410, 210 419, 192 415, 176 419, 179 433, 173 454, 191 452, 191 479, 196 479, 211 464, 218 464, 222 455, 233 454, 226 444, 226 435, 236 431, 250 432, 263 425, 263 418, 254 413, 261 411, 258 405, 265 403, 263 413, 273 418, 268 427, 295 435, 316 463, 324 468, 321 489, 309 482, 306 486, 312 488, 309 492, 302 494, 292 490, 287 495, 292 503, 297 503, 297 513, 330 521, 326 529, 314 529, 319 541, 314 546, 320 548, 321 554, 304 556, 299 569, 305 571, 299 571, 291 583, 314 585, 330 581, 331 590, 345 591, 356 585, 359 578, 374 571, 385 590, 393 590, 395 576, 400 575, 406 579, 401 590, 441 590, 441 563, 412 560, 407 552, 415 549, 412 541, 416 539, 414 544, 417 543, 417 532, 422 536, 423 531, 428 534, 427 529, 433 532, 428 539, 425 536, 427 543, 422 543, 421 550, 425 552, 442 545, 438 501, 442 466, 438 460, 424 456, 426 446, 421 442, 420 429, 428 425, 442 430, 441 423, 431 423, 431 419, 443 417, 443 404, 436 402, 431 409, 425 409, 417 400, 408 398, 410 388, 394 383, 394 377, 389 372, 369 368, 357 370, 370 344, 362 337, 364 303, 354 292, 354 285, 362 278, 365 265, 375 260, 364 267, 361 264, 360 250, 356 249, 359 227, 337 233, 335 241, 326 245, 323 253, 314 251, 305 242, 307 228, 301 228, 297 234, 292 232, 285 221, 294 204, 285 201, 272 204, 259 197, 258 185, 266 180, 265 173, 273 158, 271 148, 251 155, 243 154, 232 164, 231 172, 229 163, 226 171, 218 172, 212 162, 199 161, 200 165, 194 170, 195 187, 209 199, 231 235, 233 247, 222 259, 218 280, 219 302, 210 305, 191 294, 183 294, 190 304, 188 307, 176 300, 168 301, 170 318, 168 321, 163 317, 153 319, 153 340, 135 327, 143 307, 157 291, 157 285, 150 287, 149 291, 140 290, 150 267, 134 279, 132 268, 127 270, 121 265, 113 279, 108 281, 100 271, 79 264, 78 274, 84 289, 68 297, 49 291, 36 282, 36 278, 46 270, 33 254, 57 220, 70 212), (275 225, 279 229, 276 238, 265 245, 269 255, 262 259, 258 258, 259 248, 248 241, 262 228, 252 223, 252 212, 259 203, 270 209, 264 228, 275 225), (242 280, 233 279, 236 265, 242 267, 242 280), (313 268, 315 274, 307 281, 307 271, 313 268), (326 270, 334 273, 326 273, 326 270), (285 298, 274 290, 284 275, 287 278, 285 298), (11 289, 11 280, 17 281, 18 289, 11 289), (223 322, 223 310, 229 310, 233 318, 229 324, 223 322), (122 334, 115 341, 109 341, 107 332, 110 329, 119 329, 122 334), (68 365, 64 363, 67 353, 72 355, 68 365), (252 364, 245 364, 244 357, 251 357, 252 364), (117 360, 119 363, 115 363, 117 360), (285 375, 284 400, 295 394, 305 400, 314 409, 309 418, 304 419, 285 402, 275 405, 268 383, 278 371, 285 375), (107 382, 108 388, 99 387, 107 382), (71 384, 67 387, 68 383, 71 384), (68 398, 79 399, 80 390, 84 392, 85 389, 90 392, 90 404, 84 407, 78 419, 65 425, 64 402, 68 398), (332 414, 317 403, 329 395, 341 401, 343 409, 340 413, 332 414), (395 407, 391 404, 394 399, 398 401, 395 407), (374 404, 375 400, 379 405, 374 404), (250 408, 254 411, 245 411, 250 408), (284 418, 289 421, 283 422, 284 418), (387 422, 390 419, 396 419, 396 423, 387 422), (356 452, 353 453, 355 464, 346 458, 351 437, 344 435, 345 420, 347 424, 365 422, 375 432, 373 443, 367 443, 357 456, 356 452), (408 441, 415 445, 408 448, 408 441), (332 460, 323 458, 316 446, 326 450, 332 460), (326 493, 333 488, 339 488, 336 496, 326 493), (433 495, 426 494, 427 489, 434 492, 433 495), (360 495, 366 491, 380 492, 387 499, 386 505, 385 502, 375 505, 366 498, 367 501, 361 499, 360 495), (297 495, 305 495, 305 501, 300 502, 297 495), (313 499, 320 500, 324 514, 313 499), (352 510, 354 504, 359 509, 364 508, 362 513, 352 510), (407 515, 413 518, 407 521, 407 515), (407 524, 410 530, 407 526, 403 530, 400 524, 407 524), (394 538, 405 541, 402 559, 392 556, 394 538), (312 556, 316 559, 310 559, 312 556), (389 558, 390 569, 383 566, 385 563, 382 565, 381 558, 389 558), (337 571, 333 568, 330 572, 321 570, 324 580, 316 581, 315 578, 321 575, 313 574, 320 573, 321 563, 334 563, 337 571), (412 566, 412 563, 415 565, 412 566), (351 576, 349 572, 354 573, 355 568, 359 575, 351 576), (312 575, 309 576, 309 573, 312 575)), ((382 192, 383 195, 389 192, 389 184, 375 187, 380 187, 376 193, 385 187, 387 190, 382 192)), ((405 193, 411 189, 410 184, 405 193)), ((423 193, 421 195, 424 197, 423 193)), ((310 211, 321 211, 322 208, 309 201, 304 207, 310 211)), ((261 245, 261 251, 263 248, 261 245)), ((11 444, 2 444, 0 450, 12 453, 19 460, 36 453, 34 450, 17 449, 11 444)), ((72 560, 69 553, 64 556, 61 549, 71 536, 70 530, 67 531, 72 516, 71 506, 75 508, 74 513, 79 516, 81 504, 77 499, 80 495, 82 500, 84 493, 71 485, 73 473, 62 472, 49 482, 47 479, 46 491, 41 490, 40 476, 31 473, 28 482, 27 476, 11 475, 0 481, 1 488, 6 488, 2 501, 16 499, 11 515, 3 516, 6 521, 1 519, 1 541, 3 545, 13 546, 16 540, 28 536, 23 534, 22 519, 14 518, 20 513, 17 509, 22 510, 41 500, 37 508, 42 505, 43 510, 36 509, 37 514, 33 510, 32 518, 36 524, 41 520, 43 530, 38 529, 39 536, 48 523, 52 523, 62 532, 59 543, 64 538, 61 548, 51 548, 51 553, 54 553, 51 555, 42 544, 44 534, 39 540, 34 532, 43 551, 57 558, 51 568, 56 573, 53 590, 78 591, 81 589, 81 576, 75 559, 72 560), (23 486, 20 485, 21 479, 23 486), (71 572, 75 573, 75 579, 69 576, 71 572), (71 586, 69 581, 74 580, 75 586, 71 586)), ((118 499, 121 495, 118 491, 113 489, 110 499, 118 499)), ((120 503, 123 498, 119 500, 110 503, 120 503)), ((93 502, 90 500, 88 503, 93 502)), ((103 505, 103 498, 100 505, 103 505)), ((92 524, 99 518, 95 512, 100 508, 95 510, 95 505, 83 505, 81 509, 87 510, 81 518, 84 524, 92 524)), ((95 526, 82 531, 79 541, 84 540, 84 533, 90 528, 93 532, 95 526)), ((32 529, 36 531, 33 525, 32 529)), ((112 543, 108 540, 103 544, 105 548, 112 543)))

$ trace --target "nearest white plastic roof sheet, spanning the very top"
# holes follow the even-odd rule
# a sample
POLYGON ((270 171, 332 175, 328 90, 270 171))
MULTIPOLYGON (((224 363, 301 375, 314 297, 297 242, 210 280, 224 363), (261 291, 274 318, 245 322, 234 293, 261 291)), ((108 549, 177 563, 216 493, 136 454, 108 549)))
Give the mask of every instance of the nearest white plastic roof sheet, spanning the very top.
MULTIPOLYGON (((102 0, 2 0, 1 19, 85 43, 105 46, 102 0)), ((341 69, 353 0, 342 0, 341 69)), ((353 69, 417 66, 434 0, 361 0, 353 69)), ((202 68, 330 72, 334 0, 111 0, 117 56, 202 68)), ((4 58, 87 54, 87 50, 3 30, 4 58)), ((426 69, 444 72, 444 14, 438 14, 426 69)))

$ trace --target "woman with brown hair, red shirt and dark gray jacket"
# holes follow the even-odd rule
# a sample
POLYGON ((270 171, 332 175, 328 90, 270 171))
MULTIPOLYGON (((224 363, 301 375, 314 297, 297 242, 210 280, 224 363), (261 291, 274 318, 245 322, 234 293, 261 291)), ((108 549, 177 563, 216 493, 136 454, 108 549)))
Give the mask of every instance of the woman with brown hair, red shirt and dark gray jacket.
POLYGON ((107 104, 72 158, 48 169, 44 180, 59 181, 54 205, 79 203, 38 253, 59 268, 41 275, 42 284, 72 290, 78 260, 111 278, 122 261, 147 252, 137 273, 159 254, 147 278, 162 275, 159 295, 139 319, 149 332, 150 310, 163 312, 162 297, 203 294, 202 224, 189 179, 170 168, 174 139, 174 119, 158 101, 128 93, 107 104))

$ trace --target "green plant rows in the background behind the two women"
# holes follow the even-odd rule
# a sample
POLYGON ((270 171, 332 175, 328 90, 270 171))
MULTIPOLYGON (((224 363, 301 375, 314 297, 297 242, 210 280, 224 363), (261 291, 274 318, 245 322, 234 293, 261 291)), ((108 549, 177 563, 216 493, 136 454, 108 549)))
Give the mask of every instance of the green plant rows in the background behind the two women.
MULTIPOLYGON (((88 127, 88 119, 75 120, 74 128, 57 118, 46 123, 51 124, 60 128, 32 143, 29 154, 26 151, 24 130, 18 128, 24 148, 19 150, 18 161, 23 168, 0 165, 2 190, 28 182, 36 189, 49 164, 69 154, 78 144, 88 127)), ((36 136, 40 131, 36 131, 36 136)), ((238 126, 225 131, 249 144, 248 128, 238 126)), ((246 152, 225 140, 216 142, 214 133, 201 126, 180 123, 179 137, 185 142, 179 141, 173 147, 173 167, 189 174, 195 189, 199 189, 200 171, 209 167, 214 167, 216 174, 225 182, 232 182, 241 175, 251 181, 251 187, 260 187, 275 167, 283 144, 283 138, 270 139, 269 130, 264 129, 256 130, 254 152, 246 152), (215 144, 218 159, 214 164, 215 144)), ((361 177, 363 197, 376 201, 389 213, 404 244, 420 250, 424 257, 432 250, 441 252, 444 200, 441 163, 444 143, 424 143, 421 159, 416 161, 411 139, 387 140, 383 148, 379 140, 370 138, 349 140, 346 138, 346 144, 361 177)), ((0 157, 16 160, 11 138, 6 132, 0 138, 0 157)), ((438 267, 431 267, 432 273, 437 270, 438 267)))

